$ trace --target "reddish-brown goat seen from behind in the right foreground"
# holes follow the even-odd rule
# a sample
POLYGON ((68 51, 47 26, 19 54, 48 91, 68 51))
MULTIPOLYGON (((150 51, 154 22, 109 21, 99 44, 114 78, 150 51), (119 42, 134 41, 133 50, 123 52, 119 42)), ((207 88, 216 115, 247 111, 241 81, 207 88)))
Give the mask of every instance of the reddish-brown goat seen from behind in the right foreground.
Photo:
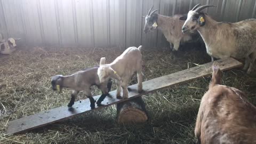
POLYGON ((213 65, 212 82, 198 111, 198 143, 256 143, 256 107, 242 91, 221 84, 222 73, 213 65))

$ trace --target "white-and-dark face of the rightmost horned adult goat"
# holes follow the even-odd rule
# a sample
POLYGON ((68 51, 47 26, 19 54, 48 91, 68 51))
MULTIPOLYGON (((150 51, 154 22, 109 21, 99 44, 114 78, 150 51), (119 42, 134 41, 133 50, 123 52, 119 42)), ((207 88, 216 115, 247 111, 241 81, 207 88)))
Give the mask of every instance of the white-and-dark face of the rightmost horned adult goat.
POLYGON ((200 26, 198 24, 198 18, 199 13, 195 11, 189 11, 187 20, 182 27, 182 32, 186 33, 187 31, 189 31, 190 33, 193 33, 197 28, 199 28, 200 26))

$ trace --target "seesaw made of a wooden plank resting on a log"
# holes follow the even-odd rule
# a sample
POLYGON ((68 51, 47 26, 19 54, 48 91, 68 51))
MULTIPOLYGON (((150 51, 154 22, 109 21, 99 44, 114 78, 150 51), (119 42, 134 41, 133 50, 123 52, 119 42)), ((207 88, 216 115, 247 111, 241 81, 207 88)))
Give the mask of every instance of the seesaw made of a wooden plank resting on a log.
MULTIPOLYGON (((218 62, 221 70, 229 70, 242 66, 241 62, 233 58, 229 58, 226 60, 217 60, 215 62, 218 62)), ((95 109, 91 109, 89 99, 85 99, 75 102, 75 104, 73 105, 73 110, 68 110, 67 106, 62 106, 46 111, 41 111, 34 115, 15 119, 9 122, 6 134, 10 135, 27 132, 38 127, 59 122, 79 114, 84 114, 89 111, 108 107, 114 104, 116 104, 117 106, 118 123, 145 122, 147 121, 148 116, 145 108, 145 103, 141 98, 142 94, 144 95, 149 92, 154 92, 167 86, 186 83, 199 77, 209 76, 212 72, 211 66, 212 62, 209 62, 205 63, 204 65, 178 71, 177 73, 150 79, 149 81, 143 82, 143 93, 138 93, 136 91, 137 84, 130 85, 129 88, 132 89, 132 91, 129 92, 129 98, 127 99, 116 99, 116 91, 111 91, 109 92, 111 98, 107 97, 104 101, 102 101, 102 104, 104 106, 96 106, 95 109)), ((94 97, 94 99, 99 99, 99 97, 100 95, 97 95, 94 97)))

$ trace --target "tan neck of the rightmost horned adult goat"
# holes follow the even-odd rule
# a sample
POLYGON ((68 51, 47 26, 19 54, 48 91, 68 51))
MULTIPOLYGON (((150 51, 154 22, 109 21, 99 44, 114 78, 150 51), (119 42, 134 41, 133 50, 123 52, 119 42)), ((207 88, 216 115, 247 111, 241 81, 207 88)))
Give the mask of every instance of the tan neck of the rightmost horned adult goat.
POLYGON ((201 37, 204 39, 204 42, 211 43, 214 38, 214 35, 217 34, 217 24, 218 22, 213 20, 209 15, 205 15, 205 25, 199 27, 197 30, 201 37))

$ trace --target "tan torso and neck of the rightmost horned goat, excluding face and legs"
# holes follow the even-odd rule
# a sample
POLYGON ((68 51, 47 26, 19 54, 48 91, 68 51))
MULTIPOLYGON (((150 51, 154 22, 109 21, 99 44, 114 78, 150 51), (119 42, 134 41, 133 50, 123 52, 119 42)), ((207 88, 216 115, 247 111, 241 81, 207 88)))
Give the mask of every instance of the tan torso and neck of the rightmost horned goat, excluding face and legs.
MULTIPOLYGON (((205 15, 205 18, 214 21, 209 15, 205 15)), ((207 53, 211 56, 220 59, 242 59, 256 50, 255 19, 235 23, 214 21, 213 26, 206 25, 199 31, 203 34, 207 53)))

